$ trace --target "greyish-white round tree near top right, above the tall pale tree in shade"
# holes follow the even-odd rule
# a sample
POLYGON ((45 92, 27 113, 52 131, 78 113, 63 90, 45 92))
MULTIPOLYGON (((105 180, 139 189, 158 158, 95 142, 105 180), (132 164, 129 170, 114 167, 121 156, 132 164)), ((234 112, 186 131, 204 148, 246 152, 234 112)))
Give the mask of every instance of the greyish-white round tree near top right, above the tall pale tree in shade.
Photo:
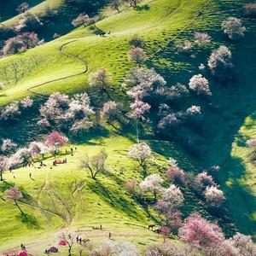
POLYGON ((227 20, 224 20, 221 27, 224 33, 233 40, 242 38, 244 36, 244 32, 246 32, 246 28, 241 26, 241 20, 234 17, 229 17, 227 20))

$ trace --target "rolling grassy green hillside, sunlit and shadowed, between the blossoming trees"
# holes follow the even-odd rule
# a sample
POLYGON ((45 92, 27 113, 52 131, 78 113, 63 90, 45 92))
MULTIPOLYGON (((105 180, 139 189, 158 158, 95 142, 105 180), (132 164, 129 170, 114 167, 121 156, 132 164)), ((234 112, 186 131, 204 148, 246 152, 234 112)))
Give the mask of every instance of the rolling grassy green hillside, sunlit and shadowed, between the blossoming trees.
MULTIPOLYGON (((35 14, 44 11, 46 3, 58 4, 61 1, 44 1, 32 9, 35 14)), ((181 128, 179 137, 150 137, 142 134, 153 148, 156 160, 150 164, 150 172, 163 173, 160 168, 170 156, 187 172, 201 172, 210 166, 220 166, 216 175, 221 189, 227 198, 229 214, 226 219, 213 218, 196 199, 191 191, 183 191, 186 204, 185 215, 198 211, 209 219, 218 221, 226 233, 240 230, 255 236, 255 166, 248 159, 245 141, 255 138, 255 79, 254 59, 256 41, 254 20, 242 16, 243 0, 152 0, 140 3, 140 8, 123 8, 120 12, 106 6, 102 10, 102 20, 94 26, 79 27, 26 53, 11 55, 0 60, 0 80, 6 85, 0 91, 0 105, 32 96, 36 107, 22 116, 22 120, 12 129, 3 126, 0 137, 12 137, 21 145, 34 140, 38 128, 30 119, 38 114, 38 105, 54 91, 72 95, 86 91, 91 102, 97 107, 102 98, 90 88, 90 73, 105 67, 110 73, 113 84, 111 96, 125 107, 128 100, 121 83, 125 73, 135 64, 128 61, 127 51, 131 48, 129 39, 138 34, 145 42, 148 55, 147 67, 154 67, 167 81, 167 84, 189 83, 201 63, 207 64, 212 49, 224 44, 233 53, 236 68, 236 82, 221 83, 205 72, 212 90, 212 110, 207 103, 203 106, 204 119, 201 127, 194 130, 181 128), (221 22, 228 16, 241 17, 247 26, 246 37, 234 43, 220 31, 221 22), (96 34, 96 29, 107 32, 106 37, 96 34), (193 55, 177 53, 176 44, 194 39, 195 32, 207 32, 212 43, 200 49, 195 47, 193 55), (252 58, 254 56, 254 58, 252 58), (201 136, 195 142, 195 150, 180 142, 189 137, 201 136), (236 228, 234 228, 234 226, 236 228)), ((6 16, 4 23, 12 24, 19 19, 6 16)), ((53 31, 51 31, 53 34, 53 31)), ((199 103, 200 100, 198 100, 199 103)), ((196 102, 195 102, 196 103, 196 102)), ((104 127, 104 132, 90 134, 79 141, 71 140, 69 147, 78 147, 74 156, 67 155, 67 165, 51 169, 53 159, 46 161, 43 169, 20 168, 14 173, 6 173, 7 183, 23 187, 30 197, 20 206, 29 212, 31 219, 20 219, 12 203, 0 201, 0 252, 16 247, 21 241, 32 252, 44 251, 53 241, 52 236, 68 228, 80 230, 91 240, 98 236, 108 238, 112 231, 114 237, 131 236, 142 250, 148 241, 160 241, 161 237, 147 230, 154 222, 154 212, 149 212, 137 201, 131 199, 124 189, 125 181, 140 177, 138 166, 126 157, 126 150, 135 142, 135 128, 119 131, 104 127), (80 160, 85 154, 96 153, 106 148, 112 175, 101 176, 94 182, 89 173, 81 170, 80 160), (119 171, 125 168, 124 175, 119 171), (29 178, 32 172, 34 181, 29 178), (14 177, 15 175, 15 177, 14 177), (103 231, 92 230, 92 226, 103 225, 103 231), (9 234, 6 236, 5 234, 9 234), (34 237, 32 239, 32 237, 34 237)), ((64 157, 65 148, 62 148, 64 157)), ((62 157, 62 155, 61 155, 62 157)), ((2 184, 2 187, 4 184, 2 184)))

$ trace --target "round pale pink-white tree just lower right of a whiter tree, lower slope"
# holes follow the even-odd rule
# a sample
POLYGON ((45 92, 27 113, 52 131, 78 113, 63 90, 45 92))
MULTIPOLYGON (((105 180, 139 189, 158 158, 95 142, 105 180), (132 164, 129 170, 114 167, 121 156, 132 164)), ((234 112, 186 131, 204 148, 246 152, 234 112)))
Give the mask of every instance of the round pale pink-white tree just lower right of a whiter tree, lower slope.
POLYGON ((162 193, 162 201, 166 201, 170 210, 176 210, 183 205, 184 197, 181 190, 171 185, 169 189, 164 189, 162 193))

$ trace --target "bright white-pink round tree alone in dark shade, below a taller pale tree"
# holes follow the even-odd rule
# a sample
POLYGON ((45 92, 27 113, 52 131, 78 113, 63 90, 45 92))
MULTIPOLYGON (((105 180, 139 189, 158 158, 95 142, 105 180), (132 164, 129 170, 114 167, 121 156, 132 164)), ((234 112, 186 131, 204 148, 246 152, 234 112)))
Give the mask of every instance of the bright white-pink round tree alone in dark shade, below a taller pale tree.
POLYGON ((206 95, 211 96, 212 92, 209 88, 209 82, 201 74, 193 76, 189 80, 189 88, 194 90, 198 96, 206 95))

